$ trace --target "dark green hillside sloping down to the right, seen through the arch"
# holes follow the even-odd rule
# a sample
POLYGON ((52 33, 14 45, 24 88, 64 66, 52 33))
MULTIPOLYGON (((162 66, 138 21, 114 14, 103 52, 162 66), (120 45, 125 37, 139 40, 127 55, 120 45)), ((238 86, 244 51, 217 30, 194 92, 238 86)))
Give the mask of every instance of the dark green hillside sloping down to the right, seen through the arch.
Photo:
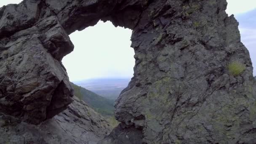
POLYGON ((93 93, 83 87, 75 85, 72 83, 75 90, 75 96, 79 99, 85 101, 91 108, 103 116, 113 116, 114 115, 114 100, 104 98, 102 96, 93 93))

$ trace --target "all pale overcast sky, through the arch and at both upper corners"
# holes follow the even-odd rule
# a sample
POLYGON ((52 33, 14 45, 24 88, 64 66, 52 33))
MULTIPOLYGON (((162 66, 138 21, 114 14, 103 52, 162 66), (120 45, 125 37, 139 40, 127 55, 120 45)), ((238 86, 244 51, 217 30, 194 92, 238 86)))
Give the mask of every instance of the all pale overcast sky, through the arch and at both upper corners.
MULTIPOLYGON (((21 0, 0 0, 0 7, 21 0)), ((256 68, 256 0, 227 0, 229 15, 235 14, 241 40, 248 48, 256 68)), ((74 32, 70 38, 75 50, 63 59, 71 81, 99 77, 129 77, 133 75, 134 51, 130 48, 131 30, 99 21, 94 27, 74 32)), ((256 70, 254 71, 256 75, 256 70)))

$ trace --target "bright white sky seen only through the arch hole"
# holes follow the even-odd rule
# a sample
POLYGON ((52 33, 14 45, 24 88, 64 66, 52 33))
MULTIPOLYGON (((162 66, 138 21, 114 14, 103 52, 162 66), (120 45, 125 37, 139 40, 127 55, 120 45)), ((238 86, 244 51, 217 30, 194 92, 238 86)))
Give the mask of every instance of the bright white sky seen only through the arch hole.
POLYGON ((131 30, 99 21, 93 27, 69 35, 74 51, 62 59, 69 80, 127 78, 133 76, 134 50, 131 30))

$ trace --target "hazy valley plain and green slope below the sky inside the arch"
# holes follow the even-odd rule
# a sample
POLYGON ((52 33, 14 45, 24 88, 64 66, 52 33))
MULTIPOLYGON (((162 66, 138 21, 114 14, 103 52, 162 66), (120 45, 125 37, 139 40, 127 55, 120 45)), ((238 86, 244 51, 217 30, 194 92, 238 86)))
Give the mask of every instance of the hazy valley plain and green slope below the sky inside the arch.
POLYGON ((107 118, 115 127, 118 121, 114 117, 114 103, 130 79, 92 79, 72 83, 75 96, 85 101, 96 112, 107 118))

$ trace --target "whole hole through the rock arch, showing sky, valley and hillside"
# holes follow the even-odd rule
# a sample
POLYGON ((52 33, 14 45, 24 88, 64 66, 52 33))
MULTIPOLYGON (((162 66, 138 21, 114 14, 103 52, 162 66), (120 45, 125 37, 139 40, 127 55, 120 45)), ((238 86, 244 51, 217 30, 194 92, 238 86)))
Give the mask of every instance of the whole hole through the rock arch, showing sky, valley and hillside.
POLYGON ((61 62, 74 84, 75 96, 116 123, 115 100, 133 77, 135 59, 130 47, 131 29, 115 27, 110 21, 99 21, 69 37, 74 51, 64 56, 61 62))

